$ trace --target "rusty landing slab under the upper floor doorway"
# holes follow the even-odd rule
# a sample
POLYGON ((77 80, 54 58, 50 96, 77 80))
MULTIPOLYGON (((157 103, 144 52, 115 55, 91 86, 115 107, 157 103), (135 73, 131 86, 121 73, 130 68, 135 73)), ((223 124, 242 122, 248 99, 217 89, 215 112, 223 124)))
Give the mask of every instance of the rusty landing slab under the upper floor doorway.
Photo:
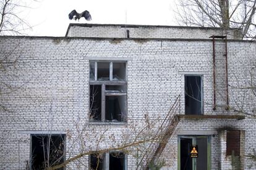
POLYGON ((179 119, 245 119, 244 115, 177 115, 179 119))

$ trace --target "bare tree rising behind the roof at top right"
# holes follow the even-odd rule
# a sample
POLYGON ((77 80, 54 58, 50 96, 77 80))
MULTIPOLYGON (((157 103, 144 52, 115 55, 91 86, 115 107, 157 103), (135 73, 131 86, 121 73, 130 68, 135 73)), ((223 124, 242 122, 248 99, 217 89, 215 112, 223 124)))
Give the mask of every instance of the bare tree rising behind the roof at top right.
POLYGON ((242 38, 255 39, 255 0, 177 0, 180 25, 241 28, 242 38))

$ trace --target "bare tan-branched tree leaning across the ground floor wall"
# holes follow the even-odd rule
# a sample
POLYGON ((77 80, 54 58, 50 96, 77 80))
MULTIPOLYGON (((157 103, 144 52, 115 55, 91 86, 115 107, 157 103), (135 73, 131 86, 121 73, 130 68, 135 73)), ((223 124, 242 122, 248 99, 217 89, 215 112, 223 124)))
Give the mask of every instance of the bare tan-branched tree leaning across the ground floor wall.
MULTIPOLYGON (((43 156, 41 156, 43 161, 36 166, 43 169, 59 169, 69 168, 69 164, 72 163, 76 164, 77 168, 81 164, 83 167, 87 167, 88 164, 84 163, 85 157, 93 156, 96 159, 96 167, 90 167, 90 169, 100 169, 100 163, 106 153, 112 154, 111 156, 116 158, 123 157, 124 154, 134 156, 138 162, 136 164, 137 169, 139 167, 145 168, 146 166, 163 166, 164 161, 158 159, 161 153, 158 153, 158 156, 155 157, 153 157, 153 154, 156 152, 157 147, 165 147, 163 144, 167 144, 169 137, 176 128, 177 123, 174 123, 174 121, 177 121, 175 115, 179 113, 179 99, 179 97, 176 99, 168 115, 163 118, 159 116, 150 118, 148 113, 145 113, 145 121, 140 126, 137 126, 130 119, 127 127, 118 133, 122 139, 116 139, 116 134, 111 132, 109 127, 95 129, 90 127, 88 122, 80 120, 74 124, 76 131, 67 132, 66 139, 61 134, 55 135, 54 139, 51 136, 53 129, 49 126, 50 134, 33 136, 35 140, 32 142, 32 148, 34 148, 33 143, 37 145, 40 143, 39 145, 43 150, 43 156), (58 141, 54 142, 56 139, 58 141), (65 145, 66 140, 69 145, 65 145), (147 158, 145 155, 147 155, 147 158), (65 157, 66 160, 64 160, 65 157)), ((50 109, 50 112, 52 113, 53 110, 50 109)), ((49 121, 51 122, 52 119, 49 119, 49 121)), ((36 158, 32 157, 31 162, 35 160, 36 158)))

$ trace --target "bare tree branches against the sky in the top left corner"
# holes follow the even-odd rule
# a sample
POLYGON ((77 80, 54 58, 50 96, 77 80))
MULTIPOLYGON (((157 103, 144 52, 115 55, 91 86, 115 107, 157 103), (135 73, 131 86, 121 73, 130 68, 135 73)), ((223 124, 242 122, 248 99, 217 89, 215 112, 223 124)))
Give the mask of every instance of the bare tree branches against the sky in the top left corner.
POLYGON ((31 28, 20 15, 23 10, 28 8, 27 2, 23 0, 0 1, 0 35, 24 34, 25 30, 31 28))

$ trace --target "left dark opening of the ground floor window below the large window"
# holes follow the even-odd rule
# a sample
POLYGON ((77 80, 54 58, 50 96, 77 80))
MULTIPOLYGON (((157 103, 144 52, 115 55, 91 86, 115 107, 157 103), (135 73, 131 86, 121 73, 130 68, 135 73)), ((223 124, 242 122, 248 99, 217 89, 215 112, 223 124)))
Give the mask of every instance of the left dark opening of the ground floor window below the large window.
POLYGON ((104 154, 90 155, 90 170, 103 170, 104 168, 104 154))

